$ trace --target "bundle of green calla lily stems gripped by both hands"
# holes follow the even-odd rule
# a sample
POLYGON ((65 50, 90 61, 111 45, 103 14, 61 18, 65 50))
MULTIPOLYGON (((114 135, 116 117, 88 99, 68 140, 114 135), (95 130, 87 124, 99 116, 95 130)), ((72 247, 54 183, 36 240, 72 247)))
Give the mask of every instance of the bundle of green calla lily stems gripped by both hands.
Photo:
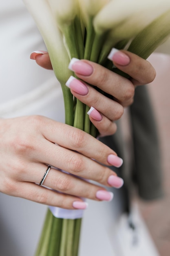
MULTIPOLYGON (((167 14, 170 15, 170 11, 168 11, 166 15, 160 16, 157 20, 154 20, 142 30, 132 40, 128 50, 142 58, 148 58, 148 56, 170 34, 170 27, 166 26, 169 22, 167 14)), ((103 54, 102 49, 108 45, 107 40, 109 39, 106 36, 107 33, 102 35, 95 33, 93 28, 93 17, 89 18, 88 26, 86 27, 84 34, 82 34, 81 24, 77 17, 69 26, 66 25, 64 27, 63 34, 71 58, 84 58, 94 61, 129 78, 127 74, 124 74, 120 70, 117 70, 116 68, 113 69, 112 63, 107 60, 108 50, 103 54), (100 56, 101 52, 102 56, 100 56)), ((109 45, 110 47, 112 45, 112 47, 121 49, 127 43, 128 40, 126 39, 120 40, 119 42, 116 41, 116 45, 110 43, 109 45)), ((57 67, 53 67, 54 72, 55 68, 57 67)), ((97 129, 93 126, 86 114, 89 110, 89 106, 85 106, 84 103, 78 99, 73 99, 73 95, 70 90, 66 88, 65 84, 61 85, 65 103, 66 124, 84 130, 96 137, 97 129)), ((81 219, 70 220, 55 218, 48 209, 35 256, 77 256, 81 221, 81 219)))

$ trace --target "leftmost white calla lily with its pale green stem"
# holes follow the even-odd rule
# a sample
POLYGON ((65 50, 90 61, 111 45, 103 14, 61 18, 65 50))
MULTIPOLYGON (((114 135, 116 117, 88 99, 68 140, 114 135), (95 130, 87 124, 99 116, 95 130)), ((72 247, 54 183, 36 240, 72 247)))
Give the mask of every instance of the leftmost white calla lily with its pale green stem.
POLYGON ((44 43, 46 44, 49 52, 55 76, 62 86, 66 123, 73 124, 71 117, 69 117, 69 115, 73 114, 73 100, 70 91, 65 86, 65 83, 71 76, 72 72, 68 70, 70 58, 63 43, 63 36, 56 25, 55 19, 46 0, 23 0, 23 2, 33 16, 33 19, 42 34, 44 43))

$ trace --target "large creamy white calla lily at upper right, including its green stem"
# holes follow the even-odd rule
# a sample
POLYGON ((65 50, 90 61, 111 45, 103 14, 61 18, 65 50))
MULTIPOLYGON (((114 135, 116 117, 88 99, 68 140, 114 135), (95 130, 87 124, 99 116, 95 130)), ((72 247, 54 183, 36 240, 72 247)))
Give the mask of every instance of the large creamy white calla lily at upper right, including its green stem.
MULTIPOLYGON (((170 9, 169 0, 114 0, 107 4, 94 19, 96 33, 108 31, 99 63, 103 63, 110 48, 121 40, 124 42, 124 45, 120 43, 121 48, 125 47, 128 41, 168 9, 170 9)), ((161 26, 161 29, 164 28, 161 26)))

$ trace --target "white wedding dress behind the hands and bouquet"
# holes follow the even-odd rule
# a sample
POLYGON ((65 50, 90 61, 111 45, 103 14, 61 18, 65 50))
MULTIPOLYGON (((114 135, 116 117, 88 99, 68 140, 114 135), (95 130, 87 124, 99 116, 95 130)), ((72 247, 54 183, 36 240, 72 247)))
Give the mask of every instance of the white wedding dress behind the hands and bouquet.
MULTIPOLYGON (((64 122, 62 90, 53 71, 42 70, 29 59, 31 52, 46 48, 22 0, 0 2, 0 38, 0 117, 44 115, 64 122)), ((141 242, 138 251, 132 248, 127 218, 121 215, 121 195, 113 191, 112 202, 89 200, 79 256, 158 256, 140 217, 139 233, 141 240, 147 237, 147 243, 142 246, 141 242)), ((0 193, 0 256, 34 255, 46 209, 0 193)))

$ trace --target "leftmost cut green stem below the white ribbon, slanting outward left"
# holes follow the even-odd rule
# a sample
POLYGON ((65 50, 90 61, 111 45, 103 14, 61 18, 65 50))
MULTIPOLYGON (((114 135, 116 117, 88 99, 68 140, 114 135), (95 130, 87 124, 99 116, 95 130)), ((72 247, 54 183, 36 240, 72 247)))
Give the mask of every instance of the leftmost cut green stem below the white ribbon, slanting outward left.
POLYGON ((49 252, 49 243, 51 239, 51 229, 53 223, 53 214, 48 209, 46 213, 46 218, 44 222, 44 226, 41 233, 40 242, 35 253, 35 256, 47 256, 49 252))

